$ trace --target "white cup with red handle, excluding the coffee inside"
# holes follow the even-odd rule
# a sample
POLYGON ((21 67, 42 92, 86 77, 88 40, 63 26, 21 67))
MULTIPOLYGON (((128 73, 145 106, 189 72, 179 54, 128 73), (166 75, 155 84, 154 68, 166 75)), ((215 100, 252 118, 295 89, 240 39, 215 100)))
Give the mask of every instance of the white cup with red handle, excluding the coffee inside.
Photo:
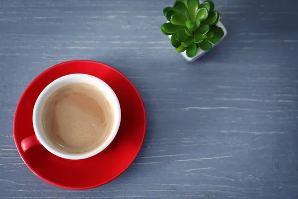
POLYGON ((53 153, 56 156, 59 156, 65 159, 79 160, 79 159, 89 158, 91 156, 94 156, 100 153, 113 141, 120 126, 121 109, 120 109, 119 100, 116 94, 111 89, 111 87, 107 85, 104 81, 91 75, 71 74, 71 75, 66 75, 56 79, 40 93, 33 108, 32 120, 33 120, 33 128, 34 128, 35 135, 31 135, 22 140, 21 147, 24 152, 28 152, 30 148, 41 144, 44 146, 44 148, 46 148, 49 152, 53 153), (86 153, 81 153, 81 154, 67 153, 55 147, 46 137, 45 132, 43 130, 42 122, 41 122, 42 110, 46 100, 59 88, 72 83, 87 83, 95 86, 96 88, 98 88, 98 90, 100 90, 103 94, 105 94, 106 98, 109 100, 114 111, 114 123, 108 138, 94 150, 88 151, 86 153))

